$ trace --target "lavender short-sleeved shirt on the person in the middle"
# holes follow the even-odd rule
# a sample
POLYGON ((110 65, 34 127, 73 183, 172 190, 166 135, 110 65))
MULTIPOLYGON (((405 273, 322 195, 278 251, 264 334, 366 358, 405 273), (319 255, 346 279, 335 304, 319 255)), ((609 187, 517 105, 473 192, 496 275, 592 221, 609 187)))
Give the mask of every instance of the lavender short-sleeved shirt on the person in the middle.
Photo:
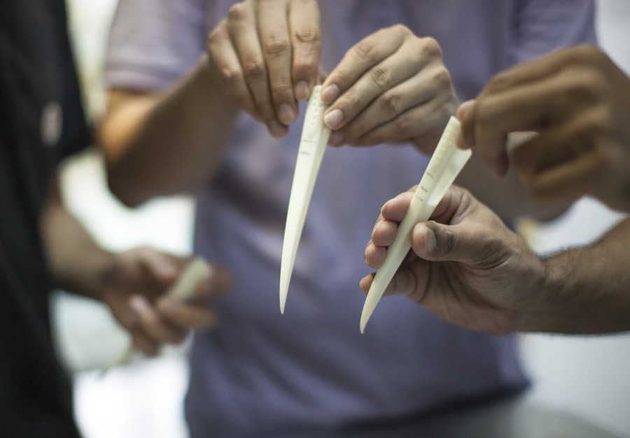
MULTIPOLYGON (((120 0, 106 80, 158 90, 188 71, 232 1, 120 0)), ((321 0, 327 71, 392 24, 433 36, 461 100, 493 73, 563 45, 594 42, 587 0, 321 0)), ((303 115, 304 106, 300 107, 303 115)), ((221 325, 195 337, 186 416, 193 437, 273 435, 420 414, 527 384, 513 336, 450 326, 404 297, 359 317, 363 248, 381 205, 417 184, 411 147, 329 148, 279 312, 284 223, 302 119, 282 141, 244 115, 223 168, 200 191, 195 251, 230 268, 221 325)))

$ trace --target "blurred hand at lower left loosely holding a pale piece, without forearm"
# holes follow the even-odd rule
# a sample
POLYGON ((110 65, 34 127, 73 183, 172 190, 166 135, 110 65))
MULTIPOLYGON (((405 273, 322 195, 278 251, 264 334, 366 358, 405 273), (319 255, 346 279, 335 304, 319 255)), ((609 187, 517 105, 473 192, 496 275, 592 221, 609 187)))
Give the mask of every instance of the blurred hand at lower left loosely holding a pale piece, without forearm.
POLYGON ((190 262, 153 249, 137 248, 114 256, 104 278, 103 299, 130 331, 134 345, 148 355, 163 343, 179 343, 188 330, 213 328, 218 316, 210 299, 228 291, 231 276, 223 268, 200 284, 186 302, 164 296, 190 262))

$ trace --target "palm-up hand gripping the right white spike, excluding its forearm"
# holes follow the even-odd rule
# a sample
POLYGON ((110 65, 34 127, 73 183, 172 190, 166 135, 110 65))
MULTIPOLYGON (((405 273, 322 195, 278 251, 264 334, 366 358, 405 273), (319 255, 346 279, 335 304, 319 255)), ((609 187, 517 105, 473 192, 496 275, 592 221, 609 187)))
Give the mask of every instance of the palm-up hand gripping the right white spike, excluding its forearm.
MULTIPOLYGON (((389 200, 365 247, 365 263, 378 269, 405 216, 415 187, 389 200)), ((384 295, 403 293, 456 326, 504 335, 518 330, 545 266, 519 236, 485 205, 452 186, 432 221, 412 231, 412 251, 384 295)), ((360 286, 370 290, 374 274, 360 286)))

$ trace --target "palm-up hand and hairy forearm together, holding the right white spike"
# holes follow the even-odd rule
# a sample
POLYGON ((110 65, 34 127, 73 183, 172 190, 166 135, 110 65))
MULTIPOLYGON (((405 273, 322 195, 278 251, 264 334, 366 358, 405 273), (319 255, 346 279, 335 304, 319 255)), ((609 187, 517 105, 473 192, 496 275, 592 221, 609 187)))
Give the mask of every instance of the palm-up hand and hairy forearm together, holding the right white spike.
MULTIPOLYGON (((389 200, 365 262, 377 269, 415 187, 389 200)), ((614 333, 630 330, 630 219, 591 247, 538 258, 468 191, 451 187, 432 220, 412 231, 412 251, 386 295, 402 293, 444 321, 494 335, 515 331, 614 333)), ((374 275, 360 286, 369 291, 374 275)))

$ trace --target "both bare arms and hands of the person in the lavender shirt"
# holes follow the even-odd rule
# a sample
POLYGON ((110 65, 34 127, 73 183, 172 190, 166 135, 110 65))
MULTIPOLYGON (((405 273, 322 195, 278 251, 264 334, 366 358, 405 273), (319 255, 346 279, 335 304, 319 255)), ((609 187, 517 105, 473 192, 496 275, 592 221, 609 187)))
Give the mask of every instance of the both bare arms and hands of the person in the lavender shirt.
MULTIPOLYGON (((207 54, 175 85, 160 94, 111 90, 99 143, 113 193, 138 205, 207 184, 223 163, 241 111, 284 136, 297 101, 320 76, 318 17, 315 1, 237 3, 209 35, 207 54)), ((322 93, 331 103, 328 124, 331 115, 344 115, 333 145, 409 140, 426 154, 458 105, 439 45, 401 25, 357 43, 322 93)), ((550 219, 567 206, 541 208, 514 175, 497 184, 477 157, 457 182, 506 220, 522 214, 550 219)))

